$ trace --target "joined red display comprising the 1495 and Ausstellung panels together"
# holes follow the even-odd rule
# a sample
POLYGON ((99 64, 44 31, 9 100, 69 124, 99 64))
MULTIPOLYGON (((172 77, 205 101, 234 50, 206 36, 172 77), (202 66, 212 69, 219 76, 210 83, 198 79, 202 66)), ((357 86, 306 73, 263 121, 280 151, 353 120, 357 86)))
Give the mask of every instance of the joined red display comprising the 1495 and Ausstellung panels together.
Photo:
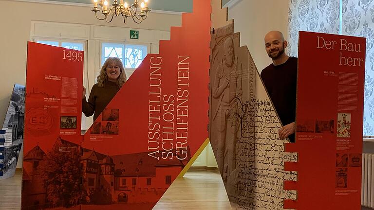
POLYGON ((154 207, 208 138, 210 1, 193 8, 84 138, 82 52, 29 43, 22 209, 154 207))

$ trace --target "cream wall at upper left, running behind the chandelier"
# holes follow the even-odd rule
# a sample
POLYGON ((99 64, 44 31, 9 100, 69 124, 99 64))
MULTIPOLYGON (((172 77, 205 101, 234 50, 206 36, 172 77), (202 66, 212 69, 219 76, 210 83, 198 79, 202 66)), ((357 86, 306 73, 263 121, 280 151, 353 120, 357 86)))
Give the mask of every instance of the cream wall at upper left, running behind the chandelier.
MULTIPOLYGON (((170 26, 180 26, 181 16, 172 14, 150 13, 147 20, 128 24, 116 19, 112 23, 99 21, 94 17, 91 7, 71 6, 50 3, 34 3, 15 0, 1 0, 0 13, 0 119, 5 118, 11 91, 14 83, 25 85, 27 41, 30 40, 33 21, 55 23, 74 23, 85 25, 102 25, 128 27, 131 29, 148 29, 170 31, 170 26)), ((90 63, 90 59, 88 59, 90 63)), ((0 126, 3 121, 0 120, 0 126)), ((22 167, 19 161, 18 167, 22 167)))

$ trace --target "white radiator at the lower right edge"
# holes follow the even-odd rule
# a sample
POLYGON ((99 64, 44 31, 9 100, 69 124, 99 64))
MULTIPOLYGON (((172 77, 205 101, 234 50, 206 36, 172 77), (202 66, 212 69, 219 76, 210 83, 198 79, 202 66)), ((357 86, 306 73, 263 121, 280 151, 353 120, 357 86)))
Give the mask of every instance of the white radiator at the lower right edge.
POLYGON ((374 209, 374 154, 362 154, 361 205, 374 209))

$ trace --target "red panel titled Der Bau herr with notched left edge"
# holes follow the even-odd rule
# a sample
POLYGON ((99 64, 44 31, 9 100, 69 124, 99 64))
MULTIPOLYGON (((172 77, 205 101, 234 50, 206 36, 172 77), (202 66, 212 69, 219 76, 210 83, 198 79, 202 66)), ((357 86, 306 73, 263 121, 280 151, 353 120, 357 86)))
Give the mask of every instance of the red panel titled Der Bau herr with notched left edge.
POLYGON ((296 143, 298 191, 284 209, 360 210, 366 39, 300 32, 296 143))

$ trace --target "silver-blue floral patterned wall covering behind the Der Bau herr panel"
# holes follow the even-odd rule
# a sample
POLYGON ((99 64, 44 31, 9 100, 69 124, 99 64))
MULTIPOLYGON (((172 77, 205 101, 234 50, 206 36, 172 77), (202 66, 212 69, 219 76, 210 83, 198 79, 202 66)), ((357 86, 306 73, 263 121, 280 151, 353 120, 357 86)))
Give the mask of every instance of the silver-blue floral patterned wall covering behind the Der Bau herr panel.
MULTIPOLYGON (((340 0, 289 0, 288 53, 298 55, 299 31, 339 34, 340 0)), ((342 0, 342 34, 367 37, 364 136, 374 136, 374 0, 342 0)))

